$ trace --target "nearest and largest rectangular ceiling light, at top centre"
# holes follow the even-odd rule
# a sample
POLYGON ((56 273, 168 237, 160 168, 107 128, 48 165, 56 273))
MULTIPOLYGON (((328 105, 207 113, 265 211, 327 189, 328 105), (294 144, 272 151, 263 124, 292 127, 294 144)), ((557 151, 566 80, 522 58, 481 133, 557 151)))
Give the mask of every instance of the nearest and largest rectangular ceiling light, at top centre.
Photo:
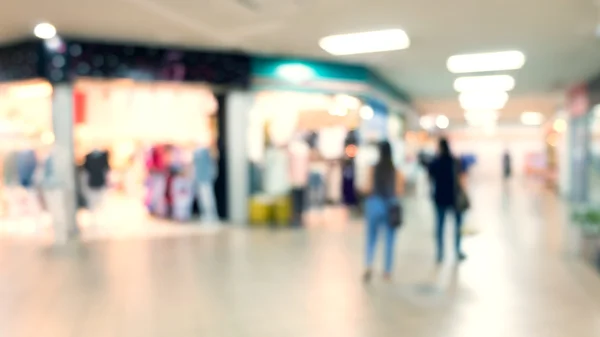
POLYGON ((329 54, 341 56, 406 49, 410 39, 402 29, 387 29, 326 36, 319 46, 329 54))

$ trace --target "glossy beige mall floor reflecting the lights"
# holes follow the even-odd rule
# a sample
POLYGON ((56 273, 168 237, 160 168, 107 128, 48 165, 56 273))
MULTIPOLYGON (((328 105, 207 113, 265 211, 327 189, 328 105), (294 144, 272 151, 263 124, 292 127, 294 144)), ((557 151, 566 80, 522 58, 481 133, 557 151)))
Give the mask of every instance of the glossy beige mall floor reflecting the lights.
POLYGON ((5 238, 0 336, 600 336, 600 278, 562 203, 534 182, 474 186, 469 259, 434 266, 431 207, 411 198, 391 283, 361 283, 363 225, 335 211, 299 231, 5 238))

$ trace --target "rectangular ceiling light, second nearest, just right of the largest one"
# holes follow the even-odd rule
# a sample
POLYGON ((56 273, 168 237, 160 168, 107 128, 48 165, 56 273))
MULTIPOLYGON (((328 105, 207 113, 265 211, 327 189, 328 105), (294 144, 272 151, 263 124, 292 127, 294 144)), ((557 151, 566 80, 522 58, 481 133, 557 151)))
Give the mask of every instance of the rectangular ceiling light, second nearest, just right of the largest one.
POLYGON ((454 55, 446 63, 450 72, 475 73, 482 71, 500 71, 520 69, 525 64, 525 55, 517 50, 454 55))

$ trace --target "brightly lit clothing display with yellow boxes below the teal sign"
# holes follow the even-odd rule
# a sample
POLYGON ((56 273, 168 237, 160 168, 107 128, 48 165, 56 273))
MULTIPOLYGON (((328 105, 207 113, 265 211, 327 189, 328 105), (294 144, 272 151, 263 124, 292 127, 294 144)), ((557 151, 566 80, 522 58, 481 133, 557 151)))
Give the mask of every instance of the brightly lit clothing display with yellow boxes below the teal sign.
POLYGON ((340 102, 321 94, 257 96, 247 133, 252 222, 302 226, 312 206, 341 204, 345 141, 360 116, 340 102))

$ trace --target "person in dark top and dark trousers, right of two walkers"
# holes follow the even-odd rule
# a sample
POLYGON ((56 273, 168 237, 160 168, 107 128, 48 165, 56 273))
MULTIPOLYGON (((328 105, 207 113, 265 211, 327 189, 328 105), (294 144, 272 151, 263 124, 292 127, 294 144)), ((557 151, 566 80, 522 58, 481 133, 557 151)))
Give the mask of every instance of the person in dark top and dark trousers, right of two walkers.
POLYGON ((466 259, 461 249, 463 212, 469 207, 464 193, 465 170, 450 151, 445 138, 440 139, 438 154, 432 161, 429 172, 434 184, 433 201, 435 203, 437 244, 437 262, 444 259, 444 224, 446 213, 452 211, 455 218, 455 251, 459 261, 466 259))

